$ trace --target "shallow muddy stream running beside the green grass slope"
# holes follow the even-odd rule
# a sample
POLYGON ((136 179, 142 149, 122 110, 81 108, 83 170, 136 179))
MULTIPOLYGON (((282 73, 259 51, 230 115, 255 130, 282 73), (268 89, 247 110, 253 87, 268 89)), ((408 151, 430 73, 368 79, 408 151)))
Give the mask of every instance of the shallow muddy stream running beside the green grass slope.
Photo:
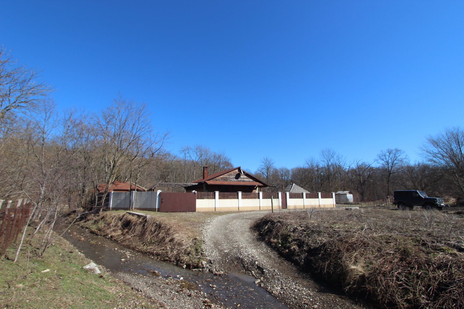
POLYGON ((97 236, 77 226, 71 226, 63 237, 87 258, 103 265, 112 272, 125 272, 148 277, 152 276, 153 271, 156 270, 161 276, 179 279, 183 277, 183 280, 195 283, 201 291, 230 307, 237 307, 240 304, 241 308, 247 309, 288 309, 274 296, 267 293, 259 285, 254 284, 253 277, 244 274, 229 273, 224 276, 214 276, 210 272, 186 270, 167 262, 155 260, 147 254, 126 249, 107 238, 97 236))

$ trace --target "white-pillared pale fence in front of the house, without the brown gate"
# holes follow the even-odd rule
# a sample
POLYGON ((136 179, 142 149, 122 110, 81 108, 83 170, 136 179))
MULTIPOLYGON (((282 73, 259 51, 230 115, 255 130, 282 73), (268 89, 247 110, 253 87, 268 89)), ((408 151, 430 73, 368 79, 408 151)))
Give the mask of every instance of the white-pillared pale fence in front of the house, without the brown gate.
MULTIPOLYGON (((195 191, 193 191, 196 193, 195 191)), ((137 209, 158 211, 160 208, 160 193, 156 192, 110 192, 109 208, 117 209, 137 209)), ((182 194, 182 193, 180 193, 182 194)), ((250 193, 245 193, 250 194, 250 193)), ((271 210, 282 209, 284 197, 287 209, 296 208, 319 208, 335 207, 335 193, 317 193, 317 198, 308 198, 307 194, 311 193, 289 193, 277 192, 270 193, 259 192, 258 198, 242 198, 242 192, 237 193, 220 193, 215 192, 198 192, 196 197, 197 212, 211 211, 250 211, 250 210, 271 210), (291 194, 291 197, 290 197, 291 194), (324 197, 322 197, 324 194, 324 197), (264 196, 263 196, 264 195, 264 196), (327 195, 331 195, 330 198, 327 195)), ((314 196, 315 194, 311 194, 314 196)))

